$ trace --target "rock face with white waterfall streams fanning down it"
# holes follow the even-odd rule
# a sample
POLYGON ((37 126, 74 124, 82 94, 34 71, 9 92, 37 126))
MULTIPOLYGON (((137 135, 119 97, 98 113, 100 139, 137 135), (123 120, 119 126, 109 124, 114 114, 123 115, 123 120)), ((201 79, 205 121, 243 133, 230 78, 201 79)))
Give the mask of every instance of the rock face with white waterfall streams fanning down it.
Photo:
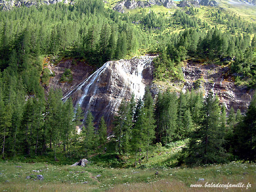
POLYGON ((109 61, 67 92, 63 100, 72 97, 74 105, 80 105, 85 116, 91 111, 95 122, 99 122, 104 115, 108 127, 111 127, 122 99, 129 100, 132 93, 137 99, 143 97, 145 86, 153 79, 153 57, 109 61))

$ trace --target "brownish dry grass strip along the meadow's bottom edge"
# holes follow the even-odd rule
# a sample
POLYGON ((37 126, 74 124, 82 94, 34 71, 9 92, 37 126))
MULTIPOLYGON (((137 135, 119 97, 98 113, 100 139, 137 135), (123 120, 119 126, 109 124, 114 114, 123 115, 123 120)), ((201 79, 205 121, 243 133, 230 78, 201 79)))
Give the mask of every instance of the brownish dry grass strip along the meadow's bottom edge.
MULTIPOLYGON (((252 184, 252 187, 249 189, 246 188, 190 188, 182 181, 172 180, 172 179, 161 179, 158 181, 150 182, 150 183, 134 183, 134 184, 118 184, 110 187, 106 190, 106 188, 102 189, 97 186, 89 186, 88 184, 42 184, 39 182, 34 182, 33 184, 25 184, 25 183, 4 183, 0 186, 0 191, 4 191, 4 188, 8 188, 7 191, 10 192, 97 192, 97 191, 108 191, 108 192, 241 192, 241 191, 256 191, 255 178, 253 176, 248 176, 243 180, 237 179, 228 179, 223 176, 222 184, 237 184, 239 182, 243 182, 243 184, 247 185, 248 183, 252 184)), ((210 180, 208 183, 213 182, 217 184, 219 181, 210 180)), ((195 182, 194 184, 202 184, 205 185, 204 182, 195 182)))

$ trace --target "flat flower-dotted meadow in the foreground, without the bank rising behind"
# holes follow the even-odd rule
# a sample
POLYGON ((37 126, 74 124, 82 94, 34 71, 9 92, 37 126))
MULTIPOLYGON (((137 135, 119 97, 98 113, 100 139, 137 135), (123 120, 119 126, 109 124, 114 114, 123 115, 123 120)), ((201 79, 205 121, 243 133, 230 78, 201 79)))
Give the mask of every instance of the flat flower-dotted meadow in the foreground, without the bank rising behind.
MULTIPOLYGON (((252 184, 256 190, 256 165, 229 163, 197 168, 149 168, 114 169, 100 166, 70 167, 54 166, 45 163, 0 163, 0 191, 202 191, 203 188, 190 188, 191 184, 252 184), (21 167, 16 167, 21 166, 21 167), (33 170, 42 170, 40 173, 33 170), (155 172, 158 171, 158 175, 155 172), (36 178, 42 174, 44 180, 36 178), (101 174, 100 177, 95 177, 101 174), (198 181, 204 178, 205 181, 198 181), (8 181, 7 181, 8 180, 8 181), (82 182, 88 181, 88 184, 82 182)), ((223 191, 223 188, 207 188, 207 191, 223 191)), ((243 188, 245 190, 245 188, 243 188)), ((241 191, 230 188, 227 191, 241 191)))

